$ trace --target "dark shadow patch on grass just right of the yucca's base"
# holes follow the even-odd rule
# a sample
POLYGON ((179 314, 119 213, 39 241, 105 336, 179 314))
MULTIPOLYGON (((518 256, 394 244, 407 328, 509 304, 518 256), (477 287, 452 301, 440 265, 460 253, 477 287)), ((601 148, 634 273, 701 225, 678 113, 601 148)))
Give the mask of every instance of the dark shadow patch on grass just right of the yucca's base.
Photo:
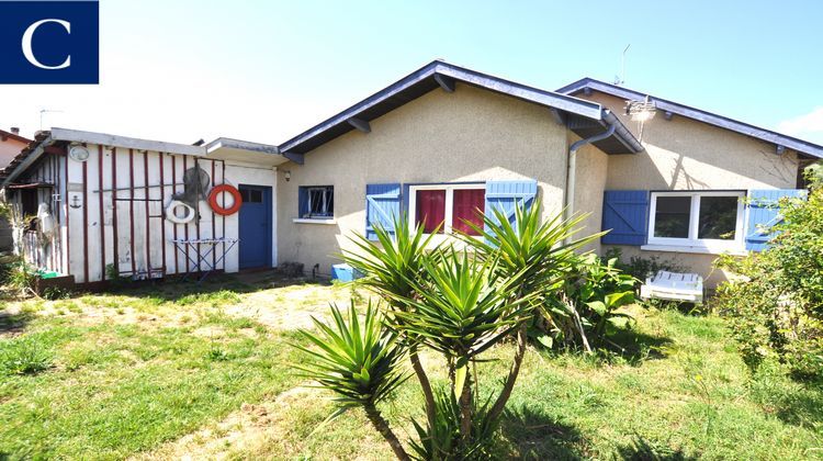
POLYGON ((576 427, 528 406, 507 409, 500 421, 507 459, 582 460, 588 445, 576 427))

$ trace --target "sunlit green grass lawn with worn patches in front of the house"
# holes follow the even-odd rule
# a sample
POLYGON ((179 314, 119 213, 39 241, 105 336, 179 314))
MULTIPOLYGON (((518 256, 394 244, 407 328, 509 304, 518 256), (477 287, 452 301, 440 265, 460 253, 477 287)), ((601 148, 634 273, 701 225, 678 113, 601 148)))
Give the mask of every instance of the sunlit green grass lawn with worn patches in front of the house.
MULTIPOLYGON (((294 329, 351 294, 259 276, 1 304, 0 459, 391 459, 359 412, 322 426, 328 395, 291 368, 294 329), (44 370, 14 374, 20 355, 44 370)), ((622 353, 527 353, 501 454, 823 459, 822 389, 776 368, 749 378, 720 318, 632 312, 622 353)), ((512 351, 481 375, 503 376, 512 351)), ((440 359, 424 361, 444 384, 440 359)), ((408 382, 383 409, 408 437, 419 407, 408 382)))

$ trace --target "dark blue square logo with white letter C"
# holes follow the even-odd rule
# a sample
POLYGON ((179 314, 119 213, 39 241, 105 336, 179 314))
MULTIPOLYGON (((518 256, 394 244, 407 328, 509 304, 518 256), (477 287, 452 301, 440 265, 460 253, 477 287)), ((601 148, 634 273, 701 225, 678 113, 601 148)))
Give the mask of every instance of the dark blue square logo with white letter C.
POLYGON ((0 83, 99 83, 99 7, 0 0, 0 83))

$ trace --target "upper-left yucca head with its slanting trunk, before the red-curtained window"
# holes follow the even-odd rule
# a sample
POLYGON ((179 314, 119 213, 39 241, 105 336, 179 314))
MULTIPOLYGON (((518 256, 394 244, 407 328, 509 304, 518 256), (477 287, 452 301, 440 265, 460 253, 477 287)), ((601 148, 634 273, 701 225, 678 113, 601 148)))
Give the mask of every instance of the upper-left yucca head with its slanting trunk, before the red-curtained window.
MULTIPOLYGON (((386 301, 388 316, 409 308, 403 300, 417 296, 415 285, 427 277, 424 262, 441 251, 441 248, 432 243, 437 231, 427 236, 422 227, 412 228, 405 215, 394 216, 393 224, 393 232, 380 224, 374 226, 376 244, 363 235, 354 234, 351 241, 357 245, 358 250, 343 250, 340 255, 343 261, 364 276, 358 283, 371 289, 386 301)), ((409 361, 424 394, 426 417, 429 425, 432 425, 435 394, 417 355, 417 338, 408 331, 402 334, 401 339, 408 348, 409 361)))

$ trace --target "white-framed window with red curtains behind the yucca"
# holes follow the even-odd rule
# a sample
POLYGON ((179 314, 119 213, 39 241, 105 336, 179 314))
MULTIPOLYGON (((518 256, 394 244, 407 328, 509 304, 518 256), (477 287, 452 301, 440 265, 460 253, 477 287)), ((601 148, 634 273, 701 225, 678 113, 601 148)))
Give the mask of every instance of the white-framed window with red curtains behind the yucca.
POLYGON ((424 184, 409 188, 409 225, 421 226, 427 234, 438 225, 442 238, 462 231, 477 235, 466 223, 483 226, 486 203, 485 184, 424 184), (478 213, 480 211, 480 213, 478 213))

